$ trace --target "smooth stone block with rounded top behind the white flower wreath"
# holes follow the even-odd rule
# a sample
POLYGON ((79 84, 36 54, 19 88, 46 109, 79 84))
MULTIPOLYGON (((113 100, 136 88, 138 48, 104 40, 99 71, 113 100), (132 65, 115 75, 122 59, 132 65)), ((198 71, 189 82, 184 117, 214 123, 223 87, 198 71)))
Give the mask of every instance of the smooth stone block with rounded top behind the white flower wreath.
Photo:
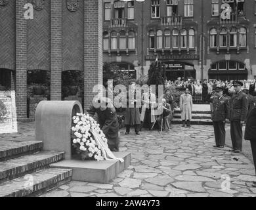
POLYGON ((35 110, 35 140, 43 141, 43 150, 65 152, 72 158, 72 117, 82 113, 79 101, 42 101, 35 110))

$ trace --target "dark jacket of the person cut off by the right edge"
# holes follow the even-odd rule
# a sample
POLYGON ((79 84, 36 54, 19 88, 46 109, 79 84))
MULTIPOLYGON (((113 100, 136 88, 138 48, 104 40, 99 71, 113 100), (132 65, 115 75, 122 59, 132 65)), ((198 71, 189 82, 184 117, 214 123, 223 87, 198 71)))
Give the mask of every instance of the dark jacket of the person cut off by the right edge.
POLYGON ((256 107, 251 110, 247 117, 244 138, 245 140, 256 141, 256 107))

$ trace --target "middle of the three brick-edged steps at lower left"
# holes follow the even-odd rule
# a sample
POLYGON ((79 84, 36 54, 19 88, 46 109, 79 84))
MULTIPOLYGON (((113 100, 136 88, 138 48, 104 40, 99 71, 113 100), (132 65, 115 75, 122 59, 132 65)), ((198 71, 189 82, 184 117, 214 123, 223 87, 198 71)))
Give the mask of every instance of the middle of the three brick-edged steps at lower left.
POLYGON ((64 152, 38 152, 0 162, 0 183, 49 167, 64 158, 64 152))

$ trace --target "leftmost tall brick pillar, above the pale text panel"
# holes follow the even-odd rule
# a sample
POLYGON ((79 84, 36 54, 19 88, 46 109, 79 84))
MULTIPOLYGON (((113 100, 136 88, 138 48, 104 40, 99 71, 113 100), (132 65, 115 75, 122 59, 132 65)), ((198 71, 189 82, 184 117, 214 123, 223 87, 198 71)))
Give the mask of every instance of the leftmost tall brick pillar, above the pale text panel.
POLYGON ((27 21, 26 0, 16 1, 16 112, 18 119, 27 118, 27 21))

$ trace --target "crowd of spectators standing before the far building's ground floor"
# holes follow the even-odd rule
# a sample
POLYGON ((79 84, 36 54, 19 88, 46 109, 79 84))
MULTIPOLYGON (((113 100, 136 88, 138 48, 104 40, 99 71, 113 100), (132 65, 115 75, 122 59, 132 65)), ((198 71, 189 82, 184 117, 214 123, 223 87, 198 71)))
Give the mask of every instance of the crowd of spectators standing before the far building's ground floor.
MULTIPOLYGON (((242 91, 246 94, 255 93, 255 79, 241 80, 243 83, 242 91)), ((165 88, 167 89, 177 89, 180 91, 185 91, 186 88, 190 91, 192 99, 197 104, 209 104, 211 94, 217 89, 217 87, 223 87, 224 95, 231 96, 234 91, 233 86, 234 81, 222 81, 217 79, 186 79, 183 80, 178 78, 175 81, 165 81, 165 88)))

